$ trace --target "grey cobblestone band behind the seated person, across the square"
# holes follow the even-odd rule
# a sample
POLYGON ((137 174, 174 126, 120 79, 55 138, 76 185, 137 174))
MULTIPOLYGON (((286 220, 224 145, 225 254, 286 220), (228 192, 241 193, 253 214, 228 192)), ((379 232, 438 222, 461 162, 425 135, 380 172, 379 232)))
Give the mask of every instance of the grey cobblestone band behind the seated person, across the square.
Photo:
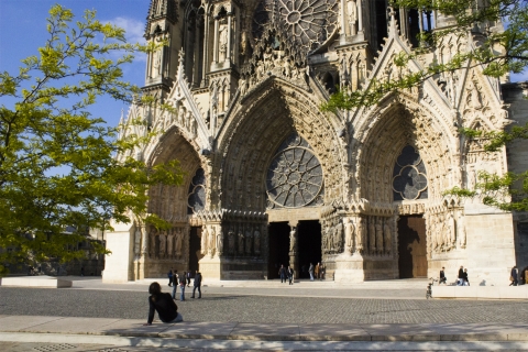
MULTIPOLYGON (((145 319, 147 294, 0 287, 0 315, 145 319)), ((186 321, 263 323, 528 323, 528 301, 210 295, 177 301, 186 321)))

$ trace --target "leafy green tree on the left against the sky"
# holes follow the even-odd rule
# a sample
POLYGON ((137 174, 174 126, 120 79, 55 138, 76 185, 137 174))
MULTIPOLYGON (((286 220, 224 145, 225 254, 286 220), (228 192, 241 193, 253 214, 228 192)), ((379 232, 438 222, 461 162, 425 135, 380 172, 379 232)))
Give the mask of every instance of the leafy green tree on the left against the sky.
MULTIPOLYGON (((88 229, 111 229, 110 219, 166 227, 146 215, 148 187, 183 180, 177 161, 134 158, 153 133, 118 140, 117 128, 89 112, 103 95, 130 101, 140 92, 122 80, 122 66, 148 48, 127 43, 124 30, 99 22, 95 11, 73 20, 54 6, 38 55, 22 61, 18 75, 0 74, 0 97, 15 101, 0 106, 0 248, 15 249, 0 253, 0 274, 7 263, 81 258, 77 243, 88 229), (116 53, 122 56, 111 59, 116 53)), ((97 242, 92 250, 108 253, 97 242)))

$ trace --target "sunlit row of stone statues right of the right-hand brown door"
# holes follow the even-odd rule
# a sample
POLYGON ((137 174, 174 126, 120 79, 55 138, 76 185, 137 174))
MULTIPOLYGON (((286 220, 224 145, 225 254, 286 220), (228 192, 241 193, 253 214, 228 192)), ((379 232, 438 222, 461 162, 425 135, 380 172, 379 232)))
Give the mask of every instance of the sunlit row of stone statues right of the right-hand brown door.
POLYGON ((462 217, 454 220, 452 211, 431 213, 426 216, 428 240, 433 253, 449 252, 455 249, 465 249, 466 234, 462 217))

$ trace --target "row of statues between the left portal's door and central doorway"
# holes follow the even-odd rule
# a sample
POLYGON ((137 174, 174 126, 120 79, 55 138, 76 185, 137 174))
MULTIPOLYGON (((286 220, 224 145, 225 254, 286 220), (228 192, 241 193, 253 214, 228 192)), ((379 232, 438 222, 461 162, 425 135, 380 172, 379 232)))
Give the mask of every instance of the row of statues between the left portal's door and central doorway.
POLYGON ((224 234, 220 226, 205 227, 201 234, 201 254, 210 255, 261 255, 261 226, 230 226, 228 230, 227 253, 223 251, 224 234))

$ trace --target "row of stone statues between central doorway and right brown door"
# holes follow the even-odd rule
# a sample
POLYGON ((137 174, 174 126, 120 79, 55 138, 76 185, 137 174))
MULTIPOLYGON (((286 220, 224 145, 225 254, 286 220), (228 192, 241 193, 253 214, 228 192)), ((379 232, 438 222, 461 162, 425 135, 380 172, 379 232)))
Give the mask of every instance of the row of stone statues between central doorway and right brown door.
POLYGON ((322 230, 322 252, 389 255, 393 249, 392 223, 393 219, 385 217, 328 220, 322 230))

